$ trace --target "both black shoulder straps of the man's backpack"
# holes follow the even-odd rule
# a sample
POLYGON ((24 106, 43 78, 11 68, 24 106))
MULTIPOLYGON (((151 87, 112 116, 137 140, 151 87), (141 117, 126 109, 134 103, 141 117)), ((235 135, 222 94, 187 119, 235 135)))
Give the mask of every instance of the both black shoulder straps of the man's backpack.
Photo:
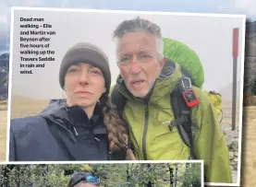
MULTIPOLYGON (((175 67, 175 64, 170 61, 168 64, 171 64, 171 66, 175 67)), ((185 79, 189 80, 191 85, 194 85, 194 81, 189 77, 188 73, 183 68, 181 68, 181 70, 183 76, 179 80, 177 88, 175 88, 174 91, 170 94, 171 106, 176 120, 169 124, 169 129, 172 131, 172 128, 177 126, 180 137, 182 138, 183 142, 190 148, 189 159, 196 159, 193 147, 192 131, 198 131, 198 129, 196 126, 192 125, 190 117, 191 107, 187 105, 181 90, 183 88, 182 81, 185 79)), ((111 101, 116 106, 116 111, 118 112, 119 117, 123 120, 123 122, 126 123, 129 132, 128 122, 123 117, 123 111, 127 99, 119 93, 118 89, 118 85, 116 84, 111 95, 111 101)), ((130 140, 129 146, 132 148, 130 140)))

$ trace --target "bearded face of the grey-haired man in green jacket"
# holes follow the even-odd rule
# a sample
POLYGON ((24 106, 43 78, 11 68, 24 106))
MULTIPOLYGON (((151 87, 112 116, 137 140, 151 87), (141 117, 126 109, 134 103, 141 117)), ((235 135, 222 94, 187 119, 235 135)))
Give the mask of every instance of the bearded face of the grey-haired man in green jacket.
POLYGON ((117 65, 126 86, 135 97, 151 90, 165 64, 159 60, 155 35, 147 32, 125 34, 117 44, 117 65))

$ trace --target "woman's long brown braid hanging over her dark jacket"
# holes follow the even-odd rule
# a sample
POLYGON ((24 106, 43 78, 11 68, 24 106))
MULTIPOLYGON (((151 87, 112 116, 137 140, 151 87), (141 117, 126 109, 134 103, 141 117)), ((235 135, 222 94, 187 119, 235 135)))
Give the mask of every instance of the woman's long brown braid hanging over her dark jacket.
POLYGON ((114 110, 107 94, 101 97, 100 104, 104 113, 104 124, 108 133, 110 151, 113 152, 126 148, 128 145, 128 133, 125 128, 125 123, 123 123, 114 110))

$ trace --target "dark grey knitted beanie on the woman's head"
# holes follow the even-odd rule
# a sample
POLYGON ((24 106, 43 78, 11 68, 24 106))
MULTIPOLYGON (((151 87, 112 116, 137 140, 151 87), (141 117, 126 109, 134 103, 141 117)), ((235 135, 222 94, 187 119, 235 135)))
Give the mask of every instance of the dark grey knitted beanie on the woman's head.
POLYGON ((67 69, 72 64, 88 63, 98 67, 104 74, 106 94, 109 93, 111 84, 111 73, 108 58, 104 52, 91 43, 80 42, 71 47, 64 55, 59 69, 59 83, 64 89, 67 69))

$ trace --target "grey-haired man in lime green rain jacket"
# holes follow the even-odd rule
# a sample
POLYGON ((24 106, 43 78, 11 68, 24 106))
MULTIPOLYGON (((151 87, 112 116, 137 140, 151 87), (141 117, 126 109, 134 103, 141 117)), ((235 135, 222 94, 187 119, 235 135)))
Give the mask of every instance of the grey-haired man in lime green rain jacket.
MULTIPOLYGON (((123 21, 114 31, 118 94, 127 101, 122 113, 136 158, 182 160, 191 156, 175 121, 170 94, 182 76, 180 66, 172 68, 163 55, 161 29, 152 22, 134 18, 123 21)), ((200 104, 191 109, 193 150, 204 161, 205 181, 232 183, 226 138, 213 105, 200 88, 192 87, 200 104)))

